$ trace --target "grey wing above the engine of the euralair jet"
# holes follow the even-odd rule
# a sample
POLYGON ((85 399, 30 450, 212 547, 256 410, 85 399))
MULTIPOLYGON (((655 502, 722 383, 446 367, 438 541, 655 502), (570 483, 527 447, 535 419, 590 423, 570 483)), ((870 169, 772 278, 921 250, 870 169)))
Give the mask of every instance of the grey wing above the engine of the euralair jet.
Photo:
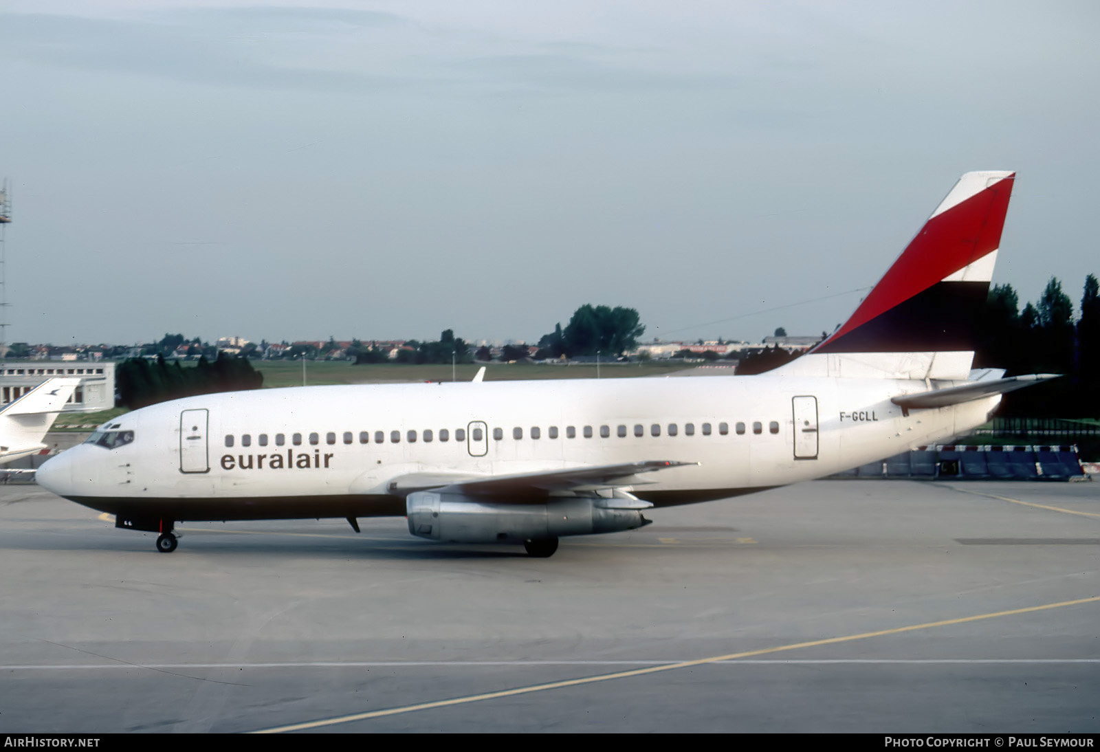
POLYGON ((646 461, 617 465, 585 465, 565 469, 536 471, 513 475, 458 475, 448 473, 409 473, 392 478, 391 494, 405 496, 429 488, 470 496, 507 496, 520 500, 531 495, 546 496, 549 491, 615 488, 648 483, 637 477, 644 473, 697 465, 697 462, 646 461))

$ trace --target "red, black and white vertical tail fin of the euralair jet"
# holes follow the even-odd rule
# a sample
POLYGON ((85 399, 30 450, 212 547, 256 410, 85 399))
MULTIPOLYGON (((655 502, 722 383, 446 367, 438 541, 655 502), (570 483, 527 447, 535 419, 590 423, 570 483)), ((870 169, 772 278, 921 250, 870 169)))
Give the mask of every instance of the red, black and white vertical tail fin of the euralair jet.
POLYGON ((840 328, 777 375, 966 379, 1015 173, 967 173, 840 328))

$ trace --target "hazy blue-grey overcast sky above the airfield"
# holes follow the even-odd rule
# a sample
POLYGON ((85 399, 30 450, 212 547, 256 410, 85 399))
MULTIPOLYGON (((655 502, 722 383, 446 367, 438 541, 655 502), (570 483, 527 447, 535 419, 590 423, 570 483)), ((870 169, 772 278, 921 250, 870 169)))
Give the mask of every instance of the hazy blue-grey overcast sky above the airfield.
POLYGON ((9 340, 530 341, 586 302, 817 334, 971 169, 1019 172, 994 281, 1076 307, 1098 32, 1094 2, 6 0, 9 340))

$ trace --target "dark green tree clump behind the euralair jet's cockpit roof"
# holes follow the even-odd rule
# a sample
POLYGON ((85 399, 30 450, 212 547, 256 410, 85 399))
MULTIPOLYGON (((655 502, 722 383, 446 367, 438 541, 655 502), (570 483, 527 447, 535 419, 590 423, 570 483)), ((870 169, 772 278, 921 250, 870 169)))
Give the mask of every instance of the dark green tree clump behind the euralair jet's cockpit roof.
POLYGON ((216 361, 200 357, 194 367, 177 361, 168 365, 163 356, 123 361, 114 369, 119 401, 131 410, 168 399, 209 395, 218 391, 258 389, 264 376, 244 357, 220 354, 216 361))

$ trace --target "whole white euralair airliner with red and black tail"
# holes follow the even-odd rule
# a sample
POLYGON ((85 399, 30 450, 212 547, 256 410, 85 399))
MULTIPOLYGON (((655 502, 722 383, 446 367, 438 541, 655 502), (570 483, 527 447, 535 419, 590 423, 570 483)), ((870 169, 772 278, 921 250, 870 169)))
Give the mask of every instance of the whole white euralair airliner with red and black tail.
POLYGON ((406 516, 439 541, 631 530, 645 509, 836 473, 985 422, 1040 376, 971 372, 1013 173, 968 173, 855 314, 759 376, 319 386, 135 410, 38 483, 176 548, 184 520, 406 516))

